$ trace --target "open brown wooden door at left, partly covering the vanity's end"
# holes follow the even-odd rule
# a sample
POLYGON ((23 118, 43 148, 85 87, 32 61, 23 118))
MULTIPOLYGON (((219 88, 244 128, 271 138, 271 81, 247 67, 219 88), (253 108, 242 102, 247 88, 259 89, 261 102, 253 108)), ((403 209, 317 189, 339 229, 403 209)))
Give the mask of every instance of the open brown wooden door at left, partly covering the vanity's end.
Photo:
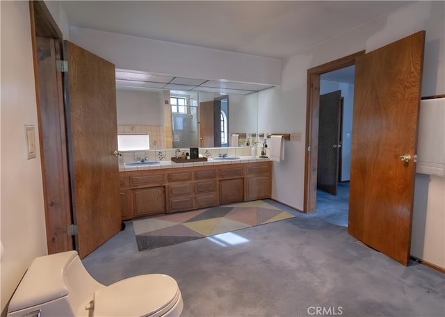
POLYGON ((81 258, 120 231, 115 66, 65 41, 65 106, 76 249, 81 258))

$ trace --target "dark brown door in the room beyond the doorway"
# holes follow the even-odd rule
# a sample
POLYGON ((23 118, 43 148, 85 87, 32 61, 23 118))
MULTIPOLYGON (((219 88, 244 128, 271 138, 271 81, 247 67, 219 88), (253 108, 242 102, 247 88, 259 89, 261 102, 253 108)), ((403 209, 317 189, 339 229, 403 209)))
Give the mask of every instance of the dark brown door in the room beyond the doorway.
POLYGON ((317 188, 337 195, 341 130, 341 90, 320 96, 317 188))

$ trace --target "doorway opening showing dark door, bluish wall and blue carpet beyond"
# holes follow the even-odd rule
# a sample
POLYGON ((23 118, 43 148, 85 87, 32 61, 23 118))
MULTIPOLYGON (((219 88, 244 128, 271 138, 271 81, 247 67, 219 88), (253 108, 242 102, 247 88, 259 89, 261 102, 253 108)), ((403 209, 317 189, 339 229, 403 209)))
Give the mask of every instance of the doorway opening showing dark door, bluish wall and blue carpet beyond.
POLYGON ((316 213, 348 227, 355 65, 321 74, 316 213))

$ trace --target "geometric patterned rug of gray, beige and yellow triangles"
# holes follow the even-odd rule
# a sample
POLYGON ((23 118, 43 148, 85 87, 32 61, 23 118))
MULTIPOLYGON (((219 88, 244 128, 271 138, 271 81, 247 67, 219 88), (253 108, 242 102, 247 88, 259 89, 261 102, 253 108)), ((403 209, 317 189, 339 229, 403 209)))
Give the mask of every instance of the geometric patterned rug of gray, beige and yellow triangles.
POLYGON ((133 220, 138 250, 150 250, 216 234, 293 218, 267 202, 256 200, 133 220))

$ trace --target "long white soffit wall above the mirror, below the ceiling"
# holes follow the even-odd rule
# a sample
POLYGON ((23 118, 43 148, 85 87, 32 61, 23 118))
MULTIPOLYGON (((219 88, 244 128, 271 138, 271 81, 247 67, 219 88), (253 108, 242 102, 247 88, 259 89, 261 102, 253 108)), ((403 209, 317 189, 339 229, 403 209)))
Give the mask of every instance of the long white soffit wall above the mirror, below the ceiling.
POLYGON ((117 68, 198 79, 280 85, 281 60, 136 36, 70 28, 70 40, 117 68))

